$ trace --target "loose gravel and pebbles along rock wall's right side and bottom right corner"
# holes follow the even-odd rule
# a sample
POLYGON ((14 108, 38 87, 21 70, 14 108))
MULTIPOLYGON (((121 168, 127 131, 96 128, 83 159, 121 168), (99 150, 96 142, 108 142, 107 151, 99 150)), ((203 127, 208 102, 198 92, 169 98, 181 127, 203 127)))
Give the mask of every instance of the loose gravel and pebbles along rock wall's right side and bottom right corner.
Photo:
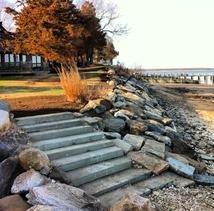
MULTIPOLYGON (((214 157, 214 131, 188 103, 183 93, 154 86, 152 94, 174 120, 178 133, 198 154, 214 157)), ((214 161, 202 160, 208 172, 214 175, 214 161)), ((211 211, 214 210, 214 187, 170 187, 150 195, 160 211, 211 211)))

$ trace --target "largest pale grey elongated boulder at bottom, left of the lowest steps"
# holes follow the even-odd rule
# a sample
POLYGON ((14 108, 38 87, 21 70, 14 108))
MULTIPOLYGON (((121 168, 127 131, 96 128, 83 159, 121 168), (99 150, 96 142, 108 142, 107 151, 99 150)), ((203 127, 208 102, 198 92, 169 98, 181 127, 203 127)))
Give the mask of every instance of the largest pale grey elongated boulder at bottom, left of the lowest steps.
POLYGON ((59 210, 101 210, 100 202, 85 191, 60 183, 33 188, 26 195, 32 205, 48 205, 59 210))

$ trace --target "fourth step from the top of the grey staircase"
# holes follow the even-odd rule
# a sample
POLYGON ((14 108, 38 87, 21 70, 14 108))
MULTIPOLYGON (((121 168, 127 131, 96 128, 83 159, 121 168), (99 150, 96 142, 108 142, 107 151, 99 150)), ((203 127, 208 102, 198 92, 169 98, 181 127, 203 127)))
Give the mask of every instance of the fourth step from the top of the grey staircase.
POLYGON ((68 147, 71 145, 77 144, 85 144, 89 142, 103 140, 104 135, 102 132, 92 132, 92 133, 85 133, 81 135, 75 136, 67 136, 63 138, 55 138, 49 140, 42 140, 38 142, 34 142, 33 145, 38 147, 40 150, 52 150, 58 149, 60 147, 68 147))

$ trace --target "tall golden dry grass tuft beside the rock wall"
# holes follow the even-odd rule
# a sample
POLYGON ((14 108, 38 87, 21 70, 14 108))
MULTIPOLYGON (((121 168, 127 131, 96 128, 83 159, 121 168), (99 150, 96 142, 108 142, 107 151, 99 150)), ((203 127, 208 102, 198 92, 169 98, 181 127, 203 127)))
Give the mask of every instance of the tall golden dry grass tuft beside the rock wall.
POLYGON ((85 103, 101 98, 110 90, 107 84, 91 84, 81 79, 77 68, 64 67, 59 71, 61 86, 69 102, 85 103))

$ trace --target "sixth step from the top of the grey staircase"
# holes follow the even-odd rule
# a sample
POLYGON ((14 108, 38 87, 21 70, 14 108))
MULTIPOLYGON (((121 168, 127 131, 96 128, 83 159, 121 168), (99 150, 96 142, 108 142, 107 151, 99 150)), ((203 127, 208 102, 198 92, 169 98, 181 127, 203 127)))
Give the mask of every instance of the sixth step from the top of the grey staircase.
POLYGON ((62 168, 64 171, 72 171, 74 169, 86 167, 91 164, 121 156, 123 156, 123 151, 120 148, 114 146, 54 160, 53 164, 62 168))

